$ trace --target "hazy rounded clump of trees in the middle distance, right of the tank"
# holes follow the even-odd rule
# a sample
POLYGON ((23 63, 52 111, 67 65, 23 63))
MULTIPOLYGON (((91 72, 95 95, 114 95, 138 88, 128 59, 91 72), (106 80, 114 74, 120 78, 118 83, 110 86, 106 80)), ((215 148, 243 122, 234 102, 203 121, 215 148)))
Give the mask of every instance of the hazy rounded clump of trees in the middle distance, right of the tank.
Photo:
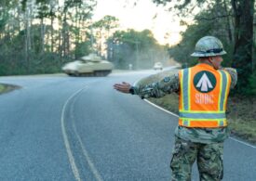
POLYGON ((118 69, 151 69, 155 61, 168 59, 165 46, 158 45, 154 35, 149 30, 117 31, 108 39, 108 59, 115 63, 118 69))

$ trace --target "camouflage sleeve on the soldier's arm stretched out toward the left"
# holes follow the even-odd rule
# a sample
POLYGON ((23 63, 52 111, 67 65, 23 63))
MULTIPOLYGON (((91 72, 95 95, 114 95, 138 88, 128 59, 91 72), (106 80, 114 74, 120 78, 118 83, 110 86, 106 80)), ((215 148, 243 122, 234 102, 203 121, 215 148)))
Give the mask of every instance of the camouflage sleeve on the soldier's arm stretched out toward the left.
POLYGON ((134 94, 141 98, 164 97, 172 92, 179 91, 179 74, 173 74, 164 77, 161 81, 144 86, 137 85, 134 87, 134 94))

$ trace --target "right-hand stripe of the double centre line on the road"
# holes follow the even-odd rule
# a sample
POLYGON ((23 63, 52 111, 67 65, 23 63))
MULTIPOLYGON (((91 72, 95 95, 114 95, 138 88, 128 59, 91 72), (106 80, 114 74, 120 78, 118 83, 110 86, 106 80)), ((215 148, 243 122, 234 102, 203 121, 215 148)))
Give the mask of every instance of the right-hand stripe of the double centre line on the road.
MULTIPOLYGON (((73 112, 73 111, 72 111, 73 112)), ((88 162, 88 165, 89 165, 89 168, 91 170, 91 172, 93 173, 93 175, 95 176, 96 180, 98 181, 102 181, 102 177, 101 175, 99 174, 99 171, 96 169, 96 167, 94 166, 92 160, 90 159, 89 155, 88 155, 88 150, 86 149, 85 145, 83 144, 82 142, 82 139, 81 137, 78 135, 78 132, 77 132, 77 129, 76 129, 76 126, 74 124, 74 115, 72 114, 72 125, 73 125, 73 129, 74 129, 74 134, 75 136, 77 137, 78 141, 79 141, 79 144, 83 150, 83 154, 84 156, 86 157, 86 160, 88 162)))

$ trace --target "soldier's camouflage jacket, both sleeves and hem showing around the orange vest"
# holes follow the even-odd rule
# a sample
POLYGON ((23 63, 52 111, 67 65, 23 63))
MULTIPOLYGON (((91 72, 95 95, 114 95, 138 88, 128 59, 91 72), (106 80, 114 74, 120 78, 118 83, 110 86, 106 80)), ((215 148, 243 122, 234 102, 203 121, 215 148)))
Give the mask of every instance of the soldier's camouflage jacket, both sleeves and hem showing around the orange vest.
MULTIPOLYGON (((237 81, 236 70, 233 68, 224 68, 224 70, 231 75, 231 88, 234 88, 237 81)), ((141 98, 163 97, 173 92, 179 93, 179 87, 179 75, 175 73, 153 84, 136 85, 134 87, 134 94, 141 98)), ((175 135, 192 142, 208 144, 223 141, 229 136, 229 130, 228 127, 210 129, 178 126, 175 130, 175 135)))

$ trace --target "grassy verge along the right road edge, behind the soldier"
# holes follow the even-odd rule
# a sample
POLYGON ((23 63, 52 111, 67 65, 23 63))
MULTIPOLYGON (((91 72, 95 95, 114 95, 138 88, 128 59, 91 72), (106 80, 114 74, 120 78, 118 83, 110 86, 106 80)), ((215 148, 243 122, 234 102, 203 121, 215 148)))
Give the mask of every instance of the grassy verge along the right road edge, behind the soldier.
MULTIPOLYGON (((177 72, 178 70, 174 71, 177 72)), ((174 72, 161 72, 141 79, 137 84, 151 84, 174 72)), ((156 105, 178 114, 179 96, 175 93, 160 98, 148 98, 156 105)), ((229 97, 227 120, 233 136, 256 144, 256 97, 229 97)))

